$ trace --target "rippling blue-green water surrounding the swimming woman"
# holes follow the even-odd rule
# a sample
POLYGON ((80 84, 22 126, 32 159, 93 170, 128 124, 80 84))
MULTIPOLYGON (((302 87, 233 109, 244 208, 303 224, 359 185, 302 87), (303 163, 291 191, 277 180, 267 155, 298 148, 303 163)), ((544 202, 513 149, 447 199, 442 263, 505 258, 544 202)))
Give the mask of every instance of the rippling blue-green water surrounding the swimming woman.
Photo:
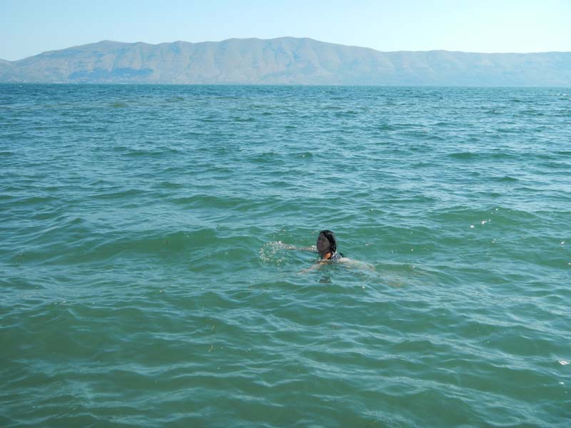
POLYGON ((0 85, 0 425, 567 427, 570 142, 571 88, 0 85))

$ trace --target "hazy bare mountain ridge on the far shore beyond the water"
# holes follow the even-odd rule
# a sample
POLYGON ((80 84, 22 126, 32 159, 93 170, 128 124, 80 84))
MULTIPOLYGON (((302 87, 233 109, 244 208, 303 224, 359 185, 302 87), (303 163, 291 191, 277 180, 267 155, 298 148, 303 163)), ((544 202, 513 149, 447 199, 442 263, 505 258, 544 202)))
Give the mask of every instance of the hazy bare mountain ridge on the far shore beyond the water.
POLYGON ((0 60, 0 82, 571 86, 571 52, 380 52, 292 37, 101 41, 0 60))

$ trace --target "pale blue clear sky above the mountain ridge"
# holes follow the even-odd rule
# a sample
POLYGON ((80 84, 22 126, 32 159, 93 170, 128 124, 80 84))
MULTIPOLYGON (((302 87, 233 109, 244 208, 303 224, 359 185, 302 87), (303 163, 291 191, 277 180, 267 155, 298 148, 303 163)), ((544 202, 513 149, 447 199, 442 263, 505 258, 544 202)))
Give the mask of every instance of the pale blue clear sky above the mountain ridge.
POLYGON ((571 0, 0 0, 0 58, 101 40, 310 37, 379 51, 571 51, 571 0))

